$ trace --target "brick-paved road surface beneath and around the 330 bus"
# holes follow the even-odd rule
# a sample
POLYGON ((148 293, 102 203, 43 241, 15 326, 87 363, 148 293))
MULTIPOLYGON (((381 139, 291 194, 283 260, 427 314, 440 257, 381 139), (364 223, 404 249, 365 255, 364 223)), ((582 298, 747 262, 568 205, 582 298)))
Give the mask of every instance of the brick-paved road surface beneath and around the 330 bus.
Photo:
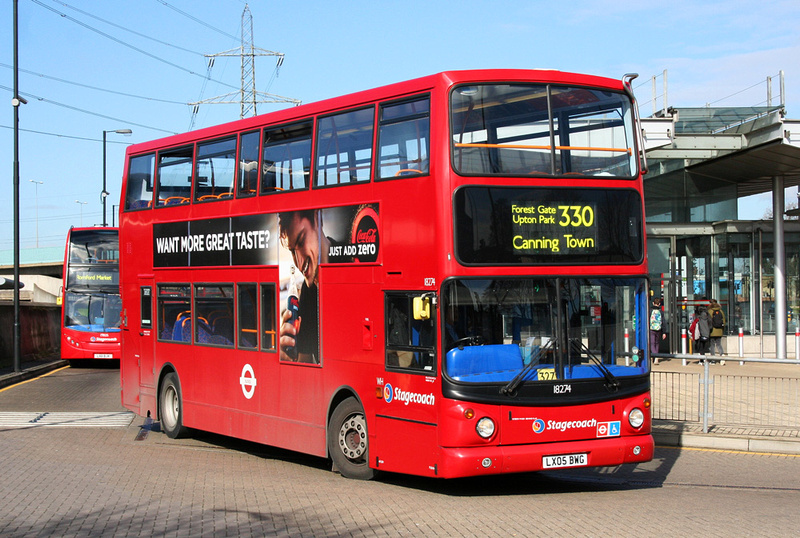
POLYGON ((729 538, 800 527, 791 454, 659 446, 638 466, 358 482, 323 459, 143 424, 120 406, 113 369, 0 391, 0 534, 729 538), (14 413, 44 417, 19 426, 14 413))

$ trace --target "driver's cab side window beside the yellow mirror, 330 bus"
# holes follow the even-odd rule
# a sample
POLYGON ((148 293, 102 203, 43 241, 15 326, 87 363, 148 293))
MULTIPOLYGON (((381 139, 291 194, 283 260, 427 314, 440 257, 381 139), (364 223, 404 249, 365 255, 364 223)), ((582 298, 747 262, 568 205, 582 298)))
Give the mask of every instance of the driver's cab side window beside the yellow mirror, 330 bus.
POLYGON ((386 366, 432 372, 435 365, 435 316, 416 320, 413 299, 418 294, 386 294, 386 366))

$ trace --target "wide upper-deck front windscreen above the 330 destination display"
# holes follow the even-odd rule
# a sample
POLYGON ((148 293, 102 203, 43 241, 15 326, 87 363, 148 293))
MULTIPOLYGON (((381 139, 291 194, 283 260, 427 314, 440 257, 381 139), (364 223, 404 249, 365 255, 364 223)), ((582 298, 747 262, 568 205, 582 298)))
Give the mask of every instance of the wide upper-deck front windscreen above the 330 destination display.
POLYGON ((636 175, 631 101, 554 85, 459 86, 451 96, 453 168, 464 175, 636 175))

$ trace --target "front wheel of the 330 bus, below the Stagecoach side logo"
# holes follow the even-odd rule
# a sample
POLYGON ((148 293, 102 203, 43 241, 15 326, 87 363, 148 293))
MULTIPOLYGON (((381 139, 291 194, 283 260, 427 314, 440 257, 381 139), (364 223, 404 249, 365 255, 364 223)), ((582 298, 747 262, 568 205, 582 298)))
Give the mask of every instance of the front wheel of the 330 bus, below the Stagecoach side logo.
POLYGON ((369 467, 367 419, 355 398, 347 398, 333 411, 328 423, 328 452, 334 469, 345 478, 374 478, 375 470, 369 467))

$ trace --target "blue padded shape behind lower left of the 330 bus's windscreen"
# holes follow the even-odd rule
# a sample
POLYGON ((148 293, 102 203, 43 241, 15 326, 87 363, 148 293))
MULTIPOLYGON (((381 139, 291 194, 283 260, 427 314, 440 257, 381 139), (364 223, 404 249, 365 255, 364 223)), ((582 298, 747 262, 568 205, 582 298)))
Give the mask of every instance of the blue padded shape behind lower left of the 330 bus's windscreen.
POLYGON ((446 360, 448 375, 463 381, 508 381, 522 369, 517 344, 453 348, 446 360))

